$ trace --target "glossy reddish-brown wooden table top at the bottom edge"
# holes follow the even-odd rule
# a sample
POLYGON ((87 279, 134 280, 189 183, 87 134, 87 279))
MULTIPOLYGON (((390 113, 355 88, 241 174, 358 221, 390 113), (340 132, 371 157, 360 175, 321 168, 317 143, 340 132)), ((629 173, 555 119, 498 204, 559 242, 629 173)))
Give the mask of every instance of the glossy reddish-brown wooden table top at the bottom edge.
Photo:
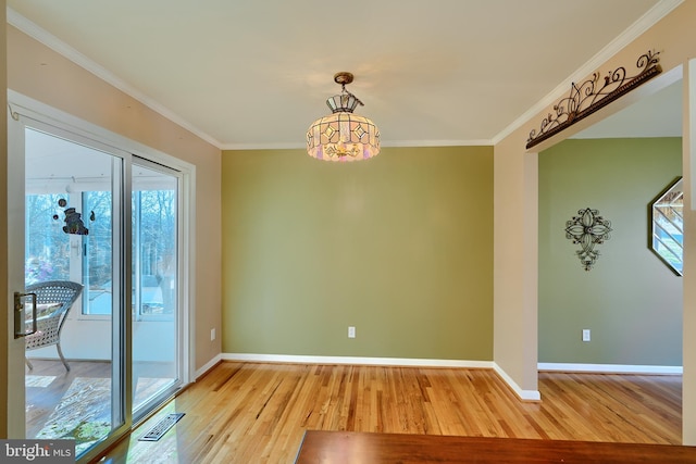
POLYGON ((296 464, 696 463, 696 447, 308 430, 296 464))

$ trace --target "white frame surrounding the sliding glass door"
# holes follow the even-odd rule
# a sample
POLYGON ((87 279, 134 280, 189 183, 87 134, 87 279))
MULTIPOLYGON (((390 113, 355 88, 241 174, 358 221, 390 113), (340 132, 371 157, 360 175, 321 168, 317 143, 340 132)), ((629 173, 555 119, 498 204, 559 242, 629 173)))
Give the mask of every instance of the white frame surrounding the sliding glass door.
MULTIPOLYGON (((79 120, 52 106, 33 100, 13 90, 8 90, 10 113, 8 116, 8 303, 14 291, 24 289, 24 127, 22 118, 55 127, 58 130, 74 134, 78 138, 95 140, 99 145, 113 147, 133 155, 170 166, 182 173, 182 211, 179 259, 183 272, 179 283, 181 324, 179 359, 182 360, 182 381, 187 385, 195 380, 195 350, 192 340, 195 330, 195 261, 191 250, 195 243, 195 181, 196 166, 166 153, 111 133, 91 123, 79 120), (21 206, 21 208, 20 208, 21 206)), ((29 124, 32 126, 32 124, 29 124)), ((127 160, 129 166, 130 159, 127 160)), ((129 170, 127 171, 129 172, 129 170)), ((8 306, 12 308, 12 306, 8 306)), ((10 329, 13 316, 10 312, 10 329)), ((10 336, 11 337, 11 336, 10 336)), ((129 364, 128 359, 125 360, 129 364)), ((25 436, 25 391, 24 391, 24 340, 11 337, 8 351, 8 436, 25 436)), ((129 367, 128 367, 129 368, 129 367)), ((129 414, 128 414, 129 418, 129 414)), ((129 421, 128 421, 129 422, 129 421)), ((127 430, 124 430, 124 432, 127 430)), ((100 447, 101 448, 101 447, 100 447)), ((92 453, 89 453, 92 454, 92 453)))

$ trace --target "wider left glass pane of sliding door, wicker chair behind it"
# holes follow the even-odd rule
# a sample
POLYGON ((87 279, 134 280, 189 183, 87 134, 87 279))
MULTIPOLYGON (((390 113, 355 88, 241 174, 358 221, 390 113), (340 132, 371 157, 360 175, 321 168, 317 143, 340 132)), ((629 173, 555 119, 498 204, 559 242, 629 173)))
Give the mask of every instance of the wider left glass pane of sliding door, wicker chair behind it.
MULTIPOLYGON (((74 439, 79 455, 125 424, 125 302, 114 298, 124 285, 124 160, 34 128, 24 136, 25 285, 83 285, 55 340, 27 337, 26 437, 74 439)), ((52 301, 39 303, 37 321, 54 316, 52 301)))

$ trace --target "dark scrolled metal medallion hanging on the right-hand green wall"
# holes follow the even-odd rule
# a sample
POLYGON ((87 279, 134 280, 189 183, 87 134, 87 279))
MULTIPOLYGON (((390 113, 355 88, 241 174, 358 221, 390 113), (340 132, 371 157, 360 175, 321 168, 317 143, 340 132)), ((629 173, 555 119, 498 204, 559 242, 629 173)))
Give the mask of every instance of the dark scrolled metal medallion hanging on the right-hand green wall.
POLYGON ((573 244, 580 244, 582 250, 575 254, 585 271, 592 269, 599 256, 599 250, 595 246, 609 240, 611 222, 599 215, 599 211, 585 208, 577 210, 577 215, 566 222, 566 238, 573 240, 573 244))

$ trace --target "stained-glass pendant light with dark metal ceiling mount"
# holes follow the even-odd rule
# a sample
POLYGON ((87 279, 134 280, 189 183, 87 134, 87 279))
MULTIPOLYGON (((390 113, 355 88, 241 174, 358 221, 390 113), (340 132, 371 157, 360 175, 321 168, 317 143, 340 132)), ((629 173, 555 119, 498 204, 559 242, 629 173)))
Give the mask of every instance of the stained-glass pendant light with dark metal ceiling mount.
POLYGON ((368 160, 380 153, 380 129, 366 117, 353 114, 363 103, 348 90, 351 73, 336 73, 334 81, 340 84, 341 92, 326 100, 332 114, 321 117, 307 131, 307 152, 310 156, 325 161, 368 160))

